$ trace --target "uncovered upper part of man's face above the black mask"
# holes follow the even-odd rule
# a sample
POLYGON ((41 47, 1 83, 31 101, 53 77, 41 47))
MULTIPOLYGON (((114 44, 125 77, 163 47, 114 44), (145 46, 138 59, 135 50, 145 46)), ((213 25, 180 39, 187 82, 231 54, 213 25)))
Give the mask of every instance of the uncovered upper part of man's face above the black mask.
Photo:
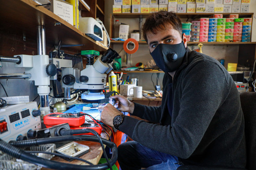
MULTIPOLYGON (((181 34, 170 25, 164 30, 157 31, 156 34, 147 34, 149 51, 152 53, 158 44, 179 44, 182 41, 181 34)), ((186 35, 183 34, 183 42, 187 47, 186 35)))

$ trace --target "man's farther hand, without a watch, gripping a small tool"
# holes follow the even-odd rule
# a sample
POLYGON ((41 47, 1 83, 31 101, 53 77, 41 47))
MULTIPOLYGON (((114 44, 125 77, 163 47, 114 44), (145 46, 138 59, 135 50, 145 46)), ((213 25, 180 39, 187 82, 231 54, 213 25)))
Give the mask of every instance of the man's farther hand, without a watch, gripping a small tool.
POLYGON ((133 113, 134 110, 134 103, 130 102, 127 98, 121 95, 114 95, 109 97, 109 103, 112 103, 112 99, 116 99, 117 102, 115 107, 120 111, 133 113))

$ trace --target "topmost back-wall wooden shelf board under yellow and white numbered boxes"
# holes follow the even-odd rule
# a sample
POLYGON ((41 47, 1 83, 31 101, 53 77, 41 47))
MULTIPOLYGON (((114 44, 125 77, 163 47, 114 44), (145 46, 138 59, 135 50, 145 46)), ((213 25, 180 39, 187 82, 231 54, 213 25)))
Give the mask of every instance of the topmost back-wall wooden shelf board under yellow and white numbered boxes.
MULTIPOLYGON (((114 13, 113 16, 116 18, 139 18, 140 16, 142 18, 146 18, 151 13, 114 13)), ((216 13, 176 13, 180 18, 203 18, 203 17, 209 17, 210 15, 216 14, 216 13)), ((225 18, 229 14, 234 13, 218 13, 223 14, 223 17, 225 18)), ((251 17, 253 13, 235 13, 239 14, 239 17, 251 17)))

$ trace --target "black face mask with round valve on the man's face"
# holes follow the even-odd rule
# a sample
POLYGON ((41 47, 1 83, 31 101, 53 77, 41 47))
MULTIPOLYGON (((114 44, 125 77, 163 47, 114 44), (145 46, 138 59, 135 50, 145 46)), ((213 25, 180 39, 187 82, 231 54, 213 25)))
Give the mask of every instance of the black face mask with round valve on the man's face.
POLYGON ((162 71, 169 73, 180 67, 186 51, 182 41, 179 44, 158 44, 150 55, 162 71))

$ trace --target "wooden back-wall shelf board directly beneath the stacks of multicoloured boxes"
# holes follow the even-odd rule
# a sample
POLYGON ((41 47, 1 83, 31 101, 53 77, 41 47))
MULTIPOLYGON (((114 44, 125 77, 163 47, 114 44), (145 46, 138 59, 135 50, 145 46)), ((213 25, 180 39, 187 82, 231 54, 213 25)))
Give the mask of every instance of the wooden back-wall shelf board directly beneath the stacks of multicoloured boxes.
MULTIPOLYGON (((113 44, 123 44, 124 41, 110 41, 113 44)), ((202 43, 204 45, 238 45, 238 44, 256 44, 256 42, 187 42, 188 45, 202 43)), ((139 44, 147 44, 146 41, 139 41, 139 44)))

